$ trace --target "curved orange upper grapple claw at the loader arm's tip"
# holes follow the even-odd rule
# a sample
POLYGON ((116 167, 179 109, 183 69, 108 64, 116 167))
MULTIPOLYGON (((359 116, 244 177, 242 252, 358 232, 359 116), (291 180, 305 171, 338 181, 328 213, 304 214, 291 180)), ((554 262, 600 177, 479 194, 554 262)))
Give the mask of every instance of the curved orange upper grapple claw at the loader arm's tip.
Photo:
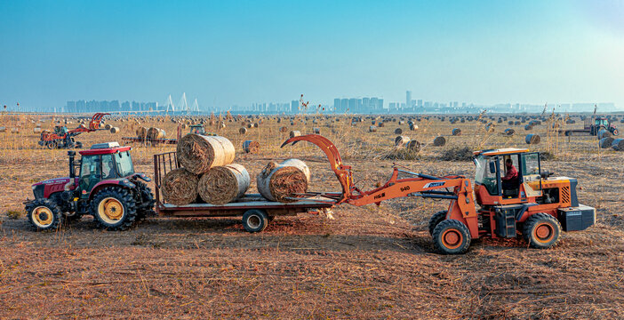
POLYGON ((351 178, 351 167, 348 165, 342 164, 342 158, 340 158, 340 152, 338 152, 338 148, 333 145, 332 141, 325 138, 322 135, 318 134, 305 134, 298 137, 292 137, 289 140, 285 140, 282 144, 281 148, 288 144, 295 144, 299 141, 308 141, 310 143, 315 144, 318 148, 321 148, 327 156, 327 160, 329 160, 330 166, 332 167, 333 172, 336 174, 336 178, 338 178, 340 185, 342 186, 342 198, 340 202, 345 201, 349 196, 351 196, 351 187, 353 185, 353 181, 351 178))

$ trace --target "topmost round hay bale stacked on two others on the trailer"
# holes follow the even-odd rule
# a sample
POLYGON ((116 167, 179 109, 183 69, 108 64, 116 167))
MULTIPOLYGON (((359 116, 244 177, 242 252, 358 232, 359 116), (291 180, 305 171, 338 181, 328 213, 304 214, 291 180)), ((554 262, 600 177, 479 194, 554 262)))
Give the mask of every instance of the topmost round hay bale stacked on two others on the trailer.
POLYGON ((220 136, 188 133, 178 142, 180 165, 195 174, 207 172, 213 166, 231 164, 236 150, 232 142, 220 136))

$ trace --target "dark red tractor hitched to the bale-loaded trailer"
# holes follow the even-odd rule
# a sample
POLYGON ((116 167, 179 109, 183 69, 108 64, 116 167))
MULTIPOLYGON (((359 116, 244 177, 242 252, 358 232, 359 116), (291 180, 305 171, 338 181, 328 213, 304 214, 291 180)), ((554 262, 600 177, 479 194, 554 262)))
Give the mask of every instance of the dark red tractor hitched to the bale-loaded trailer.
POLYGON ((91 214, 100 228, 123 230, 154 212, 154 195, 134 172, 130 147, 116 142, 98 143, 79 151, 68 151, 69 176, 33 185, 35 200, 26 203, 28 221, 37 231, 54 230, 63 220, 78 220, 91 214), (76 176, 76 168, 80 168, 76 176))

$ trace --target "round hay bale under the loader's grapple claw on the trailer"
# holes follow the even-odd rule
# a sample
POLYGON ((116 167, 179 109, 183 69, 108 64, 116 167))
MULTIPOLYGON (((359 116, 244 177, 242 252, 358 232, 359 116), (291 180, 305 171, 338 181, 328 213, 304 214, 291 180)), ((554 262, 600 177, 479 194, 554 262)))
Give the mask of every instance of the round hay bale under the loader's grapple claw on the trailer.
POLYGON ((308 191, 310 170, 299 159, 288 159, 281 164, 271 162, 258 174, 258 191, 270 201, 292 202, 287 197, 300 197, 308 191))

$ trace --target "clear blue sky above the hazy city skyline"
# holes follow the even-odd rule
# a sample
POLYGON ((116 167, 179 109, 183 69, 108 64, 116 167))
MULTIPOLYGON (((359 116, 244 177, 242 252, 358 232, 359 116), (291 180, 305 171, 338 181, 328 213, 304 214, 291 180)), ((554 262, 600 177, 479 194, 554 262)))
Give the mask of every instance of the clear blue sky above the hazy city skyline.
POLYGON ((624 107, 624 1, 0 0, 0 104, 379 96, 624 107))

